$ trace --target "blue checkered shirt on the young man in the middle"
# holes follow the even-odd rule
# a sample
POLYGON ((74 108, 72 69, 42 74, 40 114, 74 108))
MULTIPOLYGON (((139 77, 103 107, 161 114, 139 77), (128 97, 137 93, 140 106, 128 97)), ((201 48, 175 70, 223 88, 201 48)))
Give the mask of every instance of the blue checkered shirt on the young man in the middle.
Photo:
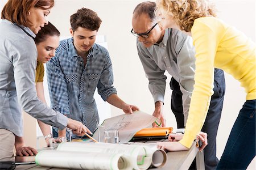
MULTIPOLYGON (((84 66, 84 60, 73 45, 73 38, 62 40, 55 57, 47 62, 46 72, 52 109, 82 122, 92 132, 96 130, 99 122, 93 97, 96 87, 104 101, 117 93, 113 87, 112 62, 108 50, 94 44, 84 66)), ((72 135, 72 138, 76 137, 72 135)))

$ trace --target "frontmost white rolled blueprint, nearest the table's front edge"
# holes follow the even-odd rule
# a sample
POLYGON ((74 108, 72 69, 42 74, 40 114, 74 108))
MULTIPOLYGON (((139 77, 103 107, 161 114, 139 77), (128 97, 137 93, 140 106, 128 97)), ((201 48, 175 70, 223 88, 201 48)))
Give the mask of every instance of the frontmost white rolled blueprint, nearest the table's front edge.
POLYGON ((36 155, 36 164, 70 169, 132 169, 122 154, 43 150, 36 155))

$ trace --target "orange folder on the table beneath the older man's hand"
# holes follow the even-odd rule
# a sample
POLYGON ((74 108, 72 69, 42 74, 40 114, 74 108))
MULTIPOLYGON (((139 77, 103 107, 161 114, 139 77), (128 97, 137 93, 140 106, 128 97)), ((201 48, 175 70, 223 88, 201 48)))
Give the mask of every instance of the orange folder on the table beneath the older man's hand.
POLYGON ((172 133, 172 127, 161 127, 161 128, 144 128, 138 131, 134 137, 160 137, 167 136, 172 133))

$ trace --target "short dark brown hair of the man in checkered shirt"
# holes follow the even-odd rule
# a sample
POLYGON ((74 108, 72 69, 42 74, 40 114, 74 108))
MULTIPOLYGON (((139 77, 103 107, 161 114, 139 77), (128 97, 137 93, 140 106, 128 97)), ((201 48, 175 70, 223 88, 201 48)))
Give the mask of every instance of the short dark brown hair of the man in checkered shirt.
POLYGON ((76 31, 78 27, 86 28, 92 31, 100 28, 101 19, 97 13, 89 10, 88 8, 81 8, 70 17, 70 24, 73 31, 76 31))

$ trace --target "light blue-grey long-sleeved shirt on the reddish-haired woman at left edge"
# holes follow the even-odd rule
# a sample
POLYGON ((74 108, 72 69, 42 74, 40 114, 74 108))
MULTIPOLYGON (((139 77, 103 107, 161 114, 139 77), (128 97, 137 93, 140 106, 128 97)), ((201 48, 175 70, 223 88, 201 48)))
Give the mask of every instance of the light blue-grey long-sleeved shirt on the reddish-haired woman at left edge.
MULTIPOLYGON (((22 28, 35 37, 29 28, 22 28)), ((35 69, 38 53, 34 40, 16 24, 2 20, 0 46, 0 128, 22 137, 20 105, 32 117, 57 128, 65 128, 67 117, 47 107, 36 95, 35 69)))

